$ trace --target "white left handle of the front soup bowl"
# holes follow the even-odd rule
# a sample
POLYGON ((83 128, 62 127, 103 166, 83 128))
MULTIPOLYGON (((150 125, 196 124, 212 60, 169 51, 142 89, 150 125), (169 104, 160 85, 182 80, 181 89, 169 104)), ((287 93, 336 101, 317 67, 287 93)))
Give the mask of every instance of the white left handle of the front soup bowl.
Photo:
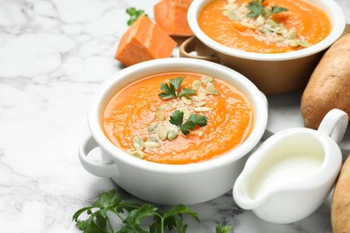
POLYGON ((96 177, 118 177, 118 166, 113 161, 97 162, 88 158, 89 153, 99 145, 91 135, 86 137, 79 146, 79 160, 83 168, 96 177))

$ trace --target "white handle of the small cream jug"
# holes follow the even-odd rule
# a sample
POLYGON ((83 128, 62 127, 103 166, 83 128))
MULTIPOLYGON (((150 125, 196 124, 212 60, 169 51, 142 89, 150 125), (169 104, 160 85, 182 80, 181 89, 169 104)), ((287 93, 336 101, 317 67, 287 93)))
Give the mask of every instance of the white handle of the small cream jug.
POLYGON ((348 116, 346 112, 334 108, 323 117, 318 130, 327 134, 337 143, 340 143, 344 134, 346 134, 347 124, 348 116))

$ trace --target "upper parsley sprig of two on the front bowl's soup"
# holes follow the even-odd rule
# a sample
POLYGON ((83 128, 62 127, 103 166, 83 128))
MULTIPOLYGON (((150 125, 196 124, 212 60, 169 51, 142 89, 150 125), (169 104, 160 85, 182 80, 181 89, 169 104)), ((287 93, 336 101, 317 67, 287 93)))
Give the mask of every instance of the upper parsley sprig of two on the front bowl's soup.
POLYGON ((162 83, 159 97, 162 99, 178 99, 182 96, 188 96, 196 93, 193 89, 183 88, 179 91, 181 82, 184 80, 184 77, 178 77, 176 79, 171 79, 170 83, 162 83))

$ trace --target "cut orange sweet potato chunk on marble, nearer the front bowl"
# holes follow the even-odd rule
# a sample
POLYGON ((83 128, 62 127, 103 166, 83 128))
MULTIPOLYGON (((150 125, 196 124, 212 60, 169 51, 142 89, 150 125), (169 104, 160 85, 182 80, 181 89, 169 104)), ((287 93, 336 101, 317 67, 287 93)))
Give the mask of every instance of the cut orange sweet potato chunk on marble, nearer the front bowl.
POLYGON ((115 58, 124 65, 135 65, 156 58, 170 57, 175 40, 147 16, 141 15, 120 39, 115 58))

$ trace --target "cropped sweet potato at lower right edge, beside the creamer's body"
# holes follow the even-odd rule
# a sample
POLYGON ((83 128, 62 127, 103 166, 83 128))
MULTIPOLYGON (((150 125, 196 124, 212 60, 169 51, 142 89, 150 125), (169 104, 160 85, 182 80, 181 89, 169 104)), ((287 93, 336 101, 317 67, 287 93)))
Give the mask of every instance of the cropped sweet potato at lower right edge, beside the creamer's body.
POLYGON ((334 233, 350 232, 350 155, 337 178, 330 216, 334 233))

